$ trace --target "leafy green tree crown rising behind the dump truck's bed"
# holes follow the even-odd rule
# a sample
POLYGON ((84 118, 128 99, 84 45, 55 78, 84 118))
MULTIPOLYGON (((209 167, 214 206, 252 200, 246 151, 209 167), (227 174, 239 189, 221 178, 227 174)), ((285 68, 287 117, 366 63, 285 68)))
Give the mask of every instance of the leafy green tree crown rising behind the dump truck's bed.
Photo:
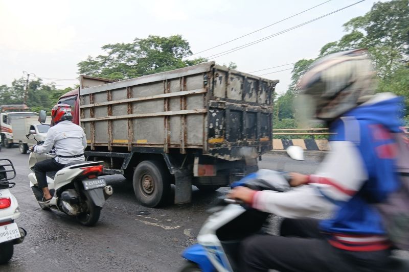
POLYGON ((135 38, 130 43, 102 46, 106 55, 88 56, 78 63, 78 71, 84 75, 113 80, 150 75, 206 61, 203 58, 183 60, 192 54, 189 42, 180 35, 170 37, 149 36, 135 38))

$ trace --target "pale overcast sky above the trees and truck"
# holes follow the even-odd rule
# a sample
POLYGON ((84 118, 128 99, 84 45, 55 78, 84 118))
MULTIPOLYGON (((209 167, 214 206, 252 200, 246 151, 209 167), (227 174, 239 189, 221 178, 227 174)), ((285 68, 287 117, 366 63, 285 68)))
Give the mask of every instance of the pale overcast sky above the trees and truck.
MULTIPOLYGON (((200 53, 208 57, 242 44, 281 32, 300 23, 343 8, 358 0, 332 0, 303 14, 277 23, 234 42, 200 53)), ((326 0, 230 0, 230 1, 7 1, 0 0, 0 85, 11 85, 22 71, 36 77, 64 79, 57 88, 78 83, 77 63, 87 56, 103 54, 101 46, 131 42, 148 35, 182 35, 193 53, 253 32, 326 0)), ((366 0, 346 10, 311 22, 258 44, 218 58, 218 64, 237 64, 237 70, 252 72, 315 58, 320 48, 345 32, 342 25, 364 15, 374 1, 366 0)), ((288 69, 283 66, 254 75, 288 69)), ((277 92, 290 83, 291 71, 262 76, 278 79, 277 92)))

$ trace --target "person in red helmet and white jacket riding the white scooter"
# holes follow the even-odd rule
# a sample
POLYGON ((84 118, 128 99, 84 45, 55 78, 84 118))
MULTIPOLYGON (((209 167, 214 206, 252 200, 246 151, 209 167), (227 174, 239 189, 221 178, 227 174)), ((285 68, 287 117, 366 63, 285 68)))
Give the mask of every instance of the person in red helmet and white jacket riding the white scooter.
POLYGON ((72 122, 71 106, 67 104, 57 104, 51 110, 51 123, 46 140, 42 145, 30 147, 31 151, 37 154, 49 152, 53 146, 56 157, 37 162, 34 165, 34 172, 38 182, 38 187, 43 192, 44 203, 52 199, 48 189, 46 172, 58 171, 65 164, 74 161, 83 161, 86 138, 84 130, 72 122))

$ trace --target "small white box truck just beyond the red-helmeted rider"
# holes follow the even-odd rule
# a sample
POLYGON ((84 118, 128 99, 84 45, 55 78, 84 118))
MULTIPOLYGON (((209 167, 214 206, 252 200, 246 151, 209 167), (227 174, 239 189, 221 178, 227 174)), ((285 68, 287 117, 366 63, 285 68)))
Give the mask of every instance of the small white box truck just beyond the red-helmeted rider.
POLYGON ((27 154, 29 147, 37 142, 26 135, 34 134, 37 141, 44 141, 49 129, 50 125, 38 122, 38 117, 13 117, 13 143, 18 144, 21 154, 27 154))

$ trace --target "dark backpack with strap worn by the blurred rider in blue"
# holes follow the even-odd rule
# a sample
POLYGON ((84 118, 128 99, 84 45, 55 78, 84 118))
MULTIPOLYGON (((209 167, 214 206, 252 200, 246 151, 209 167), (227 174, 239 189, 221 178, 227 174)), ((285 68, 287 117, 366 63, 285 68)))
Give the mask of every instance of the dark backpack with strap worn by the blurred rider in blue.
MULTIPOLYGON (((341 117, 345 139, 359 144, 359 122, 354 117, 341 117)), ((390 132, 391 133, 391 132, 390 132)), ((374 203, 379 211, 388 238, 397 249, 409 250, 409 144, 405 133, 391 133, 397 146, 395 161, 400 188, 382 203, 374 203)))

